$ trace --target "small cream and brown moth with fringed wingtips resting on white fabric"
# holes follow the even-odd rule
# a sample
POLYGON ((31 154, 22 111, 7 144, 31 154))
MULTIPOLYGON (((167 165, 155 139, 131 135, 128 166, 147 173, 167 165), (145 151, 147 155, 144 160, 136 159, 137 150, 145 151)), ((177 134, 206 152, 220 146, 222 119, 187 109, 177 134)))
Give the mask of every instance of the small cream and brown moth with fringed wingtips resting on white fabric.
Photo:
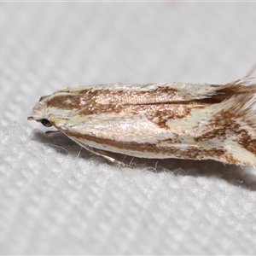
POLYGON ((256 84, 96 84, 42 96, 27 119, 107 160, 217 160, 256 166, 256 84), (107 152, 106 152, 107 151, 107 152))

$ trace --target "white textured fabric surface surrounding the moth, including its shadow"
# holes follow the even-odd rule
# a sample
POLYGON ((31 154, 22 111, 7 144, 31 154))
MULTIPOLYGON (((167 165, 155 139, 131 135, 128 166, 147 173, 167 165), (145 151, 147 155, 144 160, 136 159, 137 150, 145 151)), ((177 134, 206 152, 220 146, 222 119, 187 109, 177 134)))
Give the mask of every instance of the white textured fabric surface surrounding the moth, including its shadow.
POLYGON ((0 253, 255 253, 252 167, 135 159, 128 170, 26 120, 66 86, 240 79, 256 62, 255 9, 0 3, 0 253))

